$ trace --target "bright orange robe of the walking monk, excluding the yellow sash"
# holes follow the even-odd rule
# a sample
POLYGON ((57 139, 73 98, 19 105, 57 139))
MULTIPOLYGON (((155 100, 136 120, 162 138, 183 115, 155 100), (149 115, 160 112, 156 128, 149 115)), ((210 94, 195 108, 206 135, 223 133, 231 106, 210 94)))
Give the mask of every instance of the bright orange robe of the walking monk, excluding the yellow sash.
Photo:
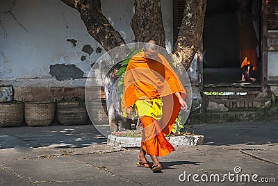
POLYGON ((141 146, 149 155, 164 156, 174 150, 163 133, 171 133, 181 108, 175 92, 180 92, 185 99, 186 90, 161 54, 158 54, 156 60, 152 60, 145 58, 145 53, 140 52, 129 60, 124 75, 122 109, 126 110, 138 99, 163 100, 162 119, 156 121, 152 117, 140 117, 144 128, 141 146))

